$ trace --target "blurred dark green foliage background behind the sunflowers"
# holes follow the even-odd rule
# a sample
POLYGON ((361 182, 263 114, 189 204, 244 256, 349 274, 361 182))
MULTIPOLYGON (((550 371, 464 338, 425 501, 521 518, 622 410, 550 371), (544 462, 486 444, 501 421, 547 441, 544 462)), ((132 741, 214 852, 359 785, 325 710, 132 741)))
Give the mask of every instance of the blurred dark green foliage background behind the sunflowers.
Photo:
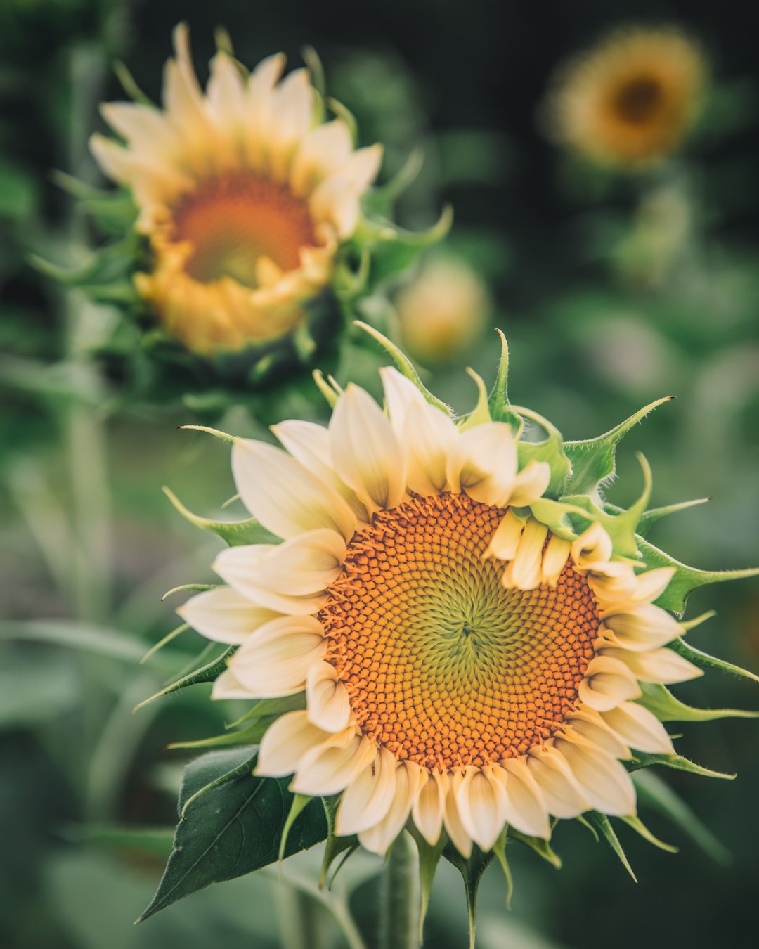
MULTIPOLYGON (((246 711, 212 705, 208 686, 197 685, 131 715, 200 651, 200 638, 183 632, 139 665, 173 628, 173 601, 163 603, 161 595, 187 578, 213 582, 207 565, 218 548, 212 538, 198 544, 159 486, 170 484, 209 516, 219 513, 208 510, 210 498, 230 496, 233 486, 224 452, 175 431, 194 420, 187 411, 141 406, 105 426, 120 380, 102 378, 83 353, 109 338, 116 316, 57 288, 30 260, 83 262, 92 235, 50 172, 101 184, 85 141, 99 126, 97 102, 120 96, 108 64, 129 59, 138 84, 157 96, 179 19, 191 23, 201 63, 219 23, 247 62, 277 48, 295 62, 306 43, 316 47, 330 89, 356 114, 366 140, 386 143, 388 177, 409 152, 424 153, 398 208, 401 223, 429 226, 435 209, 453 203, 449 246, 490 289, 491 326, 509 336, 514 400, 576 438, 675 394, 677 401, 628 437, 619 464, 632 467, 635 449, 645 451, 657 472, 657 505, 684 494, 713 500, 656 525, 651 539, 703 568, 759 562, 755 10, 700 0, 594 0, 556 7, 550 16, 510 6, 496 18, 482 0, 465 9, 454 0, 387 0, 361 9, 346 0, 290 0, 267 9, 230 0, 5 0, 0 940, 13 949, 314 945, 294 931, 297 918, 319 921, 324 945, 337 946, 344 944, 347 905, 365 931, 377 924, 377 862, 351 862, 333 891, 318 891, 321 855, 307 851, 284 865, 287 885, 264 871, 131 925, 155 892, 163 828, 175 822, 181 765, 193 757, 165 746, 217 735, 225 720, 246 711), (556 152, 535 117, 557 62, 632 17, 682 20, 713 57, 714 85, 679 158, 650 174, 615 177, 556 152), (138 837, 123 835, 124 827, 139 828, 138 837)), ((387 319, 392 324, 392 313, 387 319)), ((469 355, 488 381, 496 351, 489 330, 469 355)), ((376 390, 378 362, 377 353, 356 345, 338 378, 350 375, 376 390)), ((472 383, 459 365, 438 366, 425 381, 457 408, 471 406, 472 383)), ((319 418, 324 407, 305 381, 277 412, 319 418)), ((234 410, 223 427, 263 434, 234 410)), ((612 486, 609 499, 627 505, 634 497, 618 496, 612 486)), ((693 600, 694 615, 712 606, 719 614, 695 631, 694 642, 756 670, 756 582, 699 591, 693 600)), ((676 694, 701 706, 757 705, 751 683, 717 675, 678 686, 676 694)), ((636 886, 586 829, 563 824, 555 840, 565 860, 561 878, 527 848, 509 853, 516 881, 510 914, 502 875, 485 874, 478 945, 601 949, 614 933, 616 946, 632 949, 639 927, 622 919, 645 920, 652 949, 743 944, 756 889, 759 735, 750 721, 717 721, 688 731, 679 750, 740 772, 733 784, 666 773, 729 858, 710 838, 713 857, 724 861, 716 862, 644 804, 653 831, 681 849, 663 854, 621 828, 636 886)), ((445 866, 435 880, 429 944, 466 944, 463 910, 460 881, 445 866)))

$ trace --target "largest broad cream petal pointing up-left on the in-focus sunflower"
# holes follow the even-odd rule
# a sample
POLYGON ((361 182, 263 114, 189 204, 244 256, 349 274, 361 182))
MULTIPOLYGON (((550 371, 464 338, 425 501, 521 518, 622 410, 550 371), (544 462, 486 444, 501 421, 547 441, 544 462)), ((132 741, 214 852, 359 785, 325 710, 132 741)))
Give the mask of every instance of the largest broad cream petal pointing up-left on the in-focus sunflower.
POLYGON ((278 537, 306 530, 337 530, 348 541, 356 515, 334 488, 280 448, 237 438, 231 450, 234 483, 253 517, 278 537))

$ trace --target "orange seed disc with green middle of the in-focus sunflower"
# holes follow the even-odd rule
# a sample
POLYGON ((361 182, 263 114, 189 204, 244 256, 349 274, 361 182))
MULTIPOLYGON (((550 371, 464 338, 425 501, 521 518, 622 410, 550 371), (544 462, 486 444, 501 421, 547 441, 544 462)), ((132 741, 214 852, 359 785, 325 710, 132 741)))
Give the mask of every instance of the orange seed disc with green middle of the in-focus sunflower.
POLYGON ((466 494, 406 501, 351 542, 319 614, 364 735, 449 769, 540 744, 572 708, 598 634, 567 565, 555 588, 501 584, 483 560, 504 511, 466 494))

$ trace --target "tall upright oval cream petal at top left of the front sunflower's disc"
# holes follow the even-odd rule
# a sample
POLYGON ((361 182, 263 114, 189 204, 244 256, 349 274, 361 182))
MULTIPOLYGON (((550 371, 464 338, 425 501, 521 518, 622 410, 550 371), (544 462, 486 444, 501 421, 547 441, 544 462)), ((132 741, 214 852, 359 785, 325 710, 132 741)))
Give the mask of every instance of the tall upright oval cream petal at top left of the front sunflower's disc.
POLYGON ((358 385, 338 398, 329 436, 335 470, 366 508, 397 507, 405 493, 400 444, 377 402, 358 385))

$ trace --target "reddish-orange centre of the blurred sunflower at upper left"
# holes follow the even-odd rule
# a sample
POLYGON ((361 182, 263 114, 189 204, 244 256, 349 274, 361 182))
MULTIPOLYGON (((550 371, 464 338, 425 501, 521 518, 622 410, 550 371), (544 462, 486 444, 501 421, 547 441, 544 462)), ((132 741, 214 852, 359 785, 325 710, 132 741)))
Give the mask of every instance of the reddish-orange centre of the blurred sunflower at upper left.
POLYGON ((250 288, 258 286, 260 257, 295 270, 300 249, 317 243, 305 201, 246 172, 210 178, 184 195, 174 211, 172 239, 192 242, 185 269, 195 280, 231 277, 250 288))

